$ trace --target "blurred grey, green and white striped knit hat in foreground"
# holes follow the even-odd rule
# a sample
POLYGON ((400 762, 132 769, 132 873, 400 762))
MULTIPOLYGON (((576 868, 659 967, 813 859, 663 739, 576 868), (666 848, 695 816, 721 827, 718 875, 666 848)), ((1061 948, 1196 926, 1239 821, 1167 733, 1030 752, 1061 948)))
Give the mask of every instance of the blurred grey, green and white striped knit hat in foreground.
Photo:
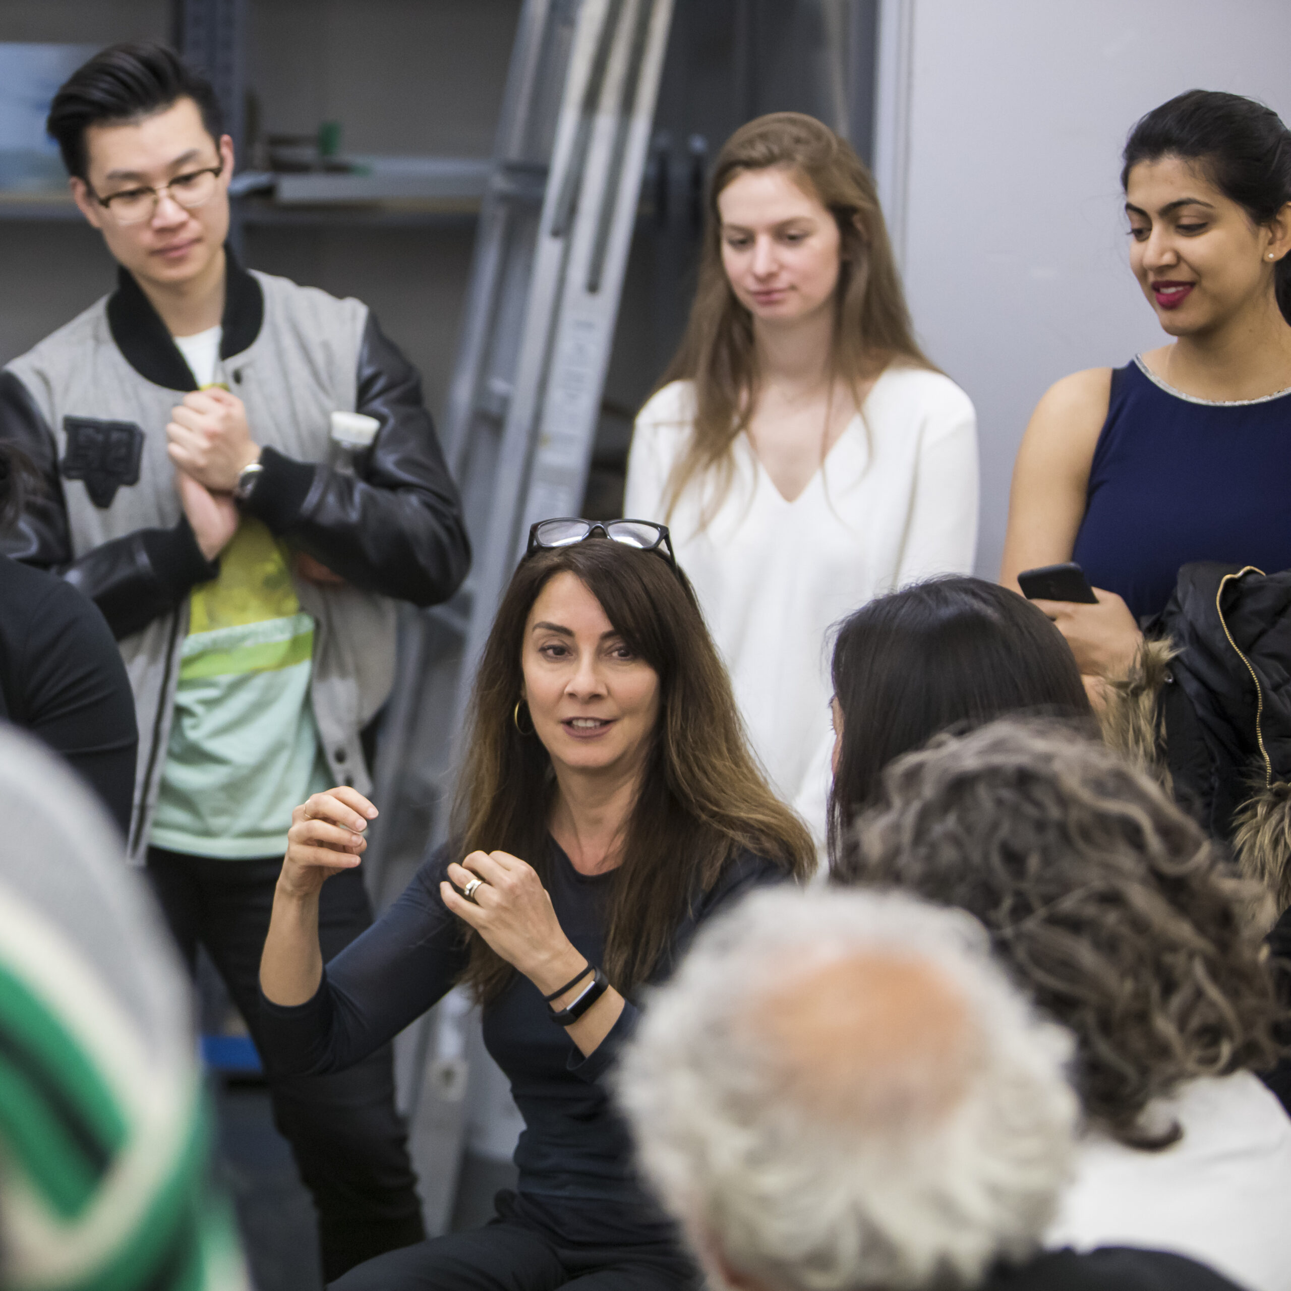
POLYGON ((141 874, 79 777, 4 724, 0 809, 0 1286, 245 1291, 187 979, 141 874))

